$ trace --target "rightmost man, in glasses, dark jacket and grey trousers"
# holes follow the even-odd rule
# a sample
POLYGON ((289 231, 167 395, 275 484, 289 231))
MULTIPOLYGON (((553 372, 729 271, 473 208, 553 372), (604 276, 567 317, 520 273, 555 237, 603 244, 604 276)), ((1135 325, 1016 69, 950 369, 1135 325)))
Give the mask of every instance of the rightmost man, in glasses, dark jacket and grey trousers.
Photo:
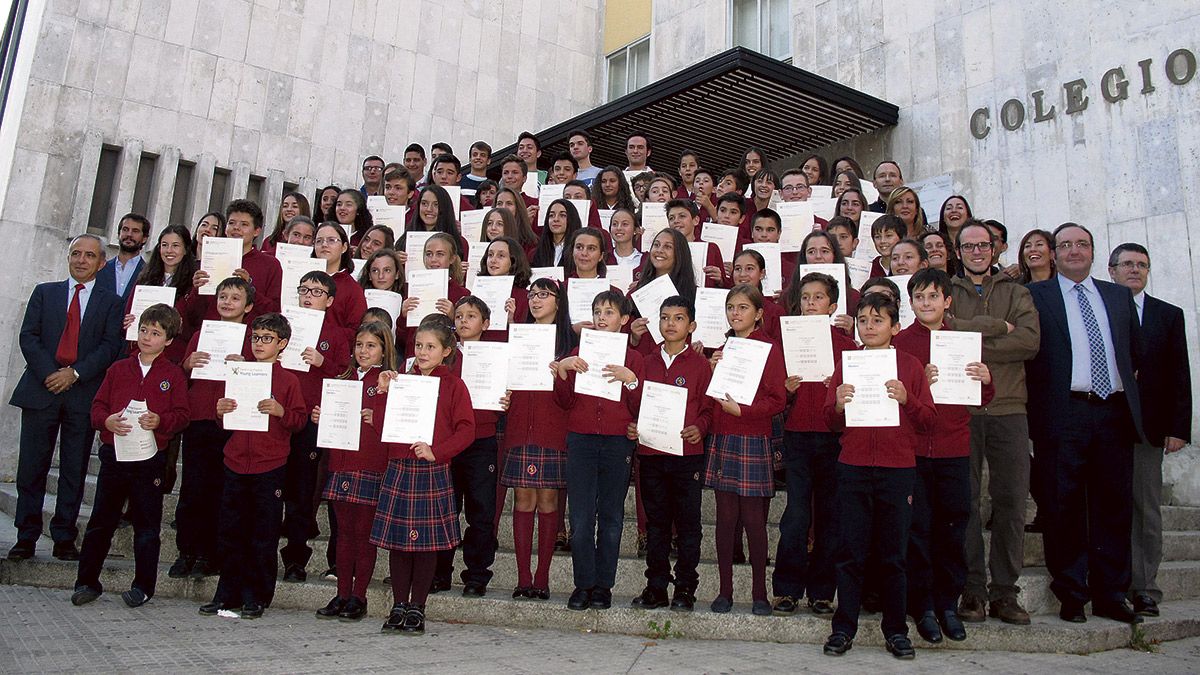
POLYGON ((1148 443, 1133 450, 1133 583, 1129 598, 1141 616, 1158 616, 1163 591, 1163 452, 1175 453, 1192 438, 1192 377, 1183 310, 1146 293, 1150 251, 1121 244, 1109 256, 1109 276, 1133 293, 1141 324, 1142 352, 1153 354, 1138 370, 1142 428, 1148 443))

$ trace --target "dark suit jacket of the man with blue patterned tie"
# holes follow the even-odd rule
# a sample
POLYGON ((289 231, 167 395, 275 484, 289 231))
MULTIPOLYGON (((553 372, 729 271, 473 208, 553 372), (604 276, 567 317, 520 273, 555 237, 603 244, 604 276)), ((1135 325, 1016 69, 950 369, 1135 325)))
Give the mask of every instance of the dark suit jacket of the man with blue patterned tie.
MULTIPOLYGON (((1094 279, 1094 277, 1093 277, 1094 279)), ((1117 374, 1124 387, 1129 416, 1135 435, 1128 442, 1145 438, 1141 425, 1141 402, 1134 372, 1141 362, 1141 336, 1138 310, 1133 294, 1124 286, 1094 279, 1104 300, 1116 352, 1117 374)), ((1030 394, 1030 438, 1034 443, 1054 442, 1074 420, 1066 417, 1070 398, 1070 331, 1067 328, 1067 306, 1057 279, 1028 285, 1033 305, 1042 323, 1042 345, 1038 356, 1025 363, 1025 382, 1030 394)))

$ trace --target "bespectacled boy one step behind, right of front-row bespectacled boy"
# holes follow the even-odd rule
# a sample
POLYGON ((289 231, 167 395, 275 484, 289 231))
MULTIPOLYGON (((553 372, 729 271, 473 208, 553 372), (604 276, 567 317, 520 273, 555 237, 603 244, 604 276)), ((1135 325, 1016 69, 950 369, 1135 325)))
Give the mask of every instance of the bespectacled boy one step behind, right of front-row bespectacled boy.
POLYGON ((312 408, 320 405, 322 380, 336 378, 346 371, 350 363, 350 347, 346 341, 346 328, 329 311, 337 293, 334 277, 324 271, 310 271, 300 277, 295 292, 301 307, 325 312, 317 346, 306 347, 300 354, 308 370, 294 371, 304 395, 305 424, 292 436, 292 452, 283 474, 282 534, 287 544, 280 550, 280 557, 283 560, 283 580, 300 583, 308 578, 305 571, 312 556, 308 539, 318 533, 316 495, 322 452, 317 447, 317 423, 310 417, 312 408))

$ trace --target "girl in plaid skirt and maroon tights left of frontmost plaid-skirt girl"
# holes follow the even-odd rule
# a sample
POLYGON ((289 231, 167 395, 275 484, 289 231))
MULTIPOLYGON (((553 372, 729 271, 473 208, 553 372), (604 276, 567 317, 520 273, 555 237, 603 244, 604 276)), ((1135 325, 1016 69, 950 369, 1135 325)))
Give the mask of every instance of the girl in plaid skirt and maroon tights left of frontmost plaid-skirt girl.
MULTIPOLYGON (((320 619, 359 621, 367 614, 367 584, 374 573, 377 551, 371 543, 371 524, 379 502, 379 486, 388 468, 388 446, 379 440, 386 396, 379 392, 379 374, 396 370, 396 347, 391 327, 365 323, 354 336, 354 362, 340 380, 362 383, 359 449, 329 448, 329 477, 322 498, 329 501, 337 518, 337 595, 317 610, 320 619)), ((320 424, 320 406, 312 408, 312 422, 320 424)))

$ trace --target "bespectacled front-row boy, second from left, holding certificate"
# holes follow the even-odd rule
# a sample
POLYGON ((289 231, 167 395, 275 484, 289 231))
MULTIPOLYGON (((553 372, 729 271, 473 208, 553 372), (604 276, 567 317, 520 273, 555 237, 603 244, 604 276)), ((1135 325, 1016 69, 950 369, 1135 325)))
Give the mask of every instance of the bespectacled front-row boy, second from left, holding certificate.
MULTIPOLYGON (((224 489, 217 548, 221 580, 212 602, 200 614, 241 608, 242 619, 258 619, 275 597, 276 552, 283 518, 283 473, 292 435, 304 428, 307 414, 300 382, 278 364, 292 327, 280 313, 266 313, 251 324, 254 359, 271 364, 271 398, 258 401, 269 416, 266 431, 234 431, 224 447, 224 489)), ((217 418, 238 408, 238 401, 217 400, 217 418)))

